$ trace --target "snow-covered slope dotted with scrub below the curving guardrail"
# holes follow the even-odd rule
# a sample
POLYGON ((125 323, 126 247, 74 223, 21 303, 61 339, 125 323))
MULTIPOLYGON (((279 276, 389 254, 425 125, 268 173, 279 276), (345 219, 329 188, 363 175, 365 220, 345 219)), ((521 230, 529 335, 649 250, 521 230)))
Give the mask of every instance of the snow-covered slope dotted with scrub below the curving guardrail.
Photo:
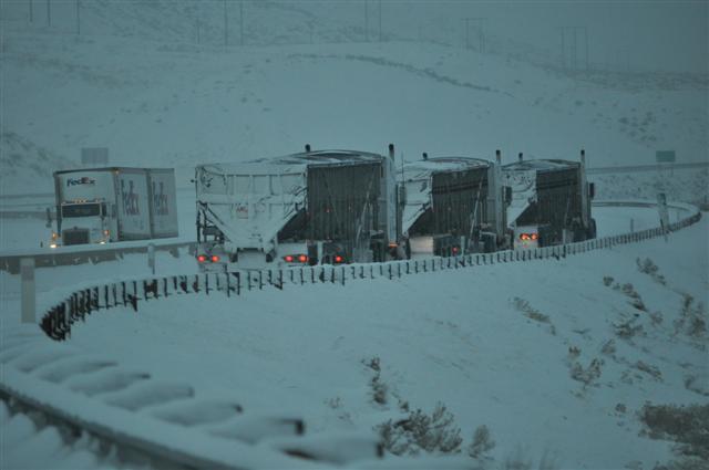
MULTIPOLYGON (((561 261, 172 297, 138 315, 94 314, 74 325, 70 344, 84 357, 187 382, 203 399, 290 410, 316 432, 371 430, 405 417, 404 403, 427 414, 441 403, 463 455, 475 428, 490 429, 492 460, 477 463, 650 469, 676 456, 669 442, 639 435, 636 412, 646 401, 703 403, 709 393, 706 333, 678 326, 688 296, 706 318, 708 230, 703 218, 667 242, 561 261), (638 259, 664 279, 640 272, 638 259), (700 391, 686 387, 690 379, 700 391)), ((56 270, 138 274, 142 260, 56 270)), ((7 328, 17 300, 3 303, 7 328)))

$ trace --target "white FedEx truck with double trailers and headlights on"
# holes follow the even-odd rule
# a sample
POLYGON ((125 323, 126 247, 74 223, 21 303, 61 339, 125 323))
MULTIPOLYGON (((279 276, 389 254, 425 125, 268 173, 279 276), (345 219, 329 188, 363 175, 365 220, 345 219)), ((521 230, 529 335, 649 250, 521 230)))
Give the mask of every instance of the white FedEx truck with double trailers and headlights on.
POLYGON ((56 231, 50 247, 177 237, 172 168, 54 173, 56 231))

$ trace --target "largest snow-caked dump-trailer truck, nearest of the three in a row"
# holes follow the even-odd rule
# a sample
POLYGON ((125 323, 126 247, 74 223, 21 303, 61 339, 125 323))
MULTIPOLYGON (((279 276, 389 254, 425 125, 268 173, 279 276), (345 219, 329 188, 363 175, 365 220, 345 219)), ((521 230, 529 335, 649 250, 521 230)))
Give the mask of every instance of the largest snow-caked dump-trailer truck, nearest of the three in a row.
POLYGON ((390 259, 399 242, 389 156, 306 152, 195 169, 204 271, 390 259))

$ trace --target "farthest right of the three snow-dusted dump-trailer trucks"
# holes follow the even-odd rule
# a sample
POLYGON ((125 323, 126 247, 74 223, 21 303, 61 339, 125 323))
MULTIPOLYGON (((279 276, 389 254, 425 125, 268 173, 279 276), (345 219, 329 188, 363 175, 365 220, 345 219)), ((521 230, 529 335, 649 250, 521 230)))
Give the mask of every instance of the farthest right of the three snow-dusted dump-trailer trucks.
POLYGON ((507 218, 515 249, 547 247, 596 238, 590 217, 594 185, 586 181, 585 153, 580 161, 525 160, 503 166, 512 188, 507 218))

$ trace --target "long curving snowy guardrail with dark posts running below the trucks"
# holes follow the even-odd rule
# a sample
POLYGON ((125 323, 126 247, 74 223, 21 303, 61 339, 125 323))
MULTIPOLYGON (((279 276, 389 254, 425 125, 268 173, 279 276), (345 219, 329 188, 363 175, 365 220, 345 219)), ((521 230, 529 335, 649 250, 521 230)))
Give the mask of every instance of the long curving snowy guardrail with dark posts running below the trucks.
POLYGON ((40 327, 52 340, 64 341, 71 336, 71 325, 78 321, 85 322, 86 316, 99 310, 114 307, 138 311, 140 304, 169 297, 204 293, 224 293, 226 296, 242 295, 244 290, 263 290, 270 285, 282 290, 285 284, 302 285, 331 283, 346 285, 349 279, 401 279, 404 275, 435 272, 443 270, 484 267, 495 263, 526 262, 533 260, 566 258, 592 250, 610 249, 617 244, 635 243, 665 236, 698 222, 701 212, 678 222, 670 223, 668 230, 653 228, 633 233, 604 237, 554 247, 542 247, 530 250, 507 250, 493 253, 462 254, 450 258, 428 258, 421 260, 399 260, 384 263, 316 265, 287 269, 265 269, 259 271, 205 272, 197 274, 179 274, 163 278, 119 281, 109 284, 90 286, 72 292, 61 302, 51 306, 42 320, 40 327))

